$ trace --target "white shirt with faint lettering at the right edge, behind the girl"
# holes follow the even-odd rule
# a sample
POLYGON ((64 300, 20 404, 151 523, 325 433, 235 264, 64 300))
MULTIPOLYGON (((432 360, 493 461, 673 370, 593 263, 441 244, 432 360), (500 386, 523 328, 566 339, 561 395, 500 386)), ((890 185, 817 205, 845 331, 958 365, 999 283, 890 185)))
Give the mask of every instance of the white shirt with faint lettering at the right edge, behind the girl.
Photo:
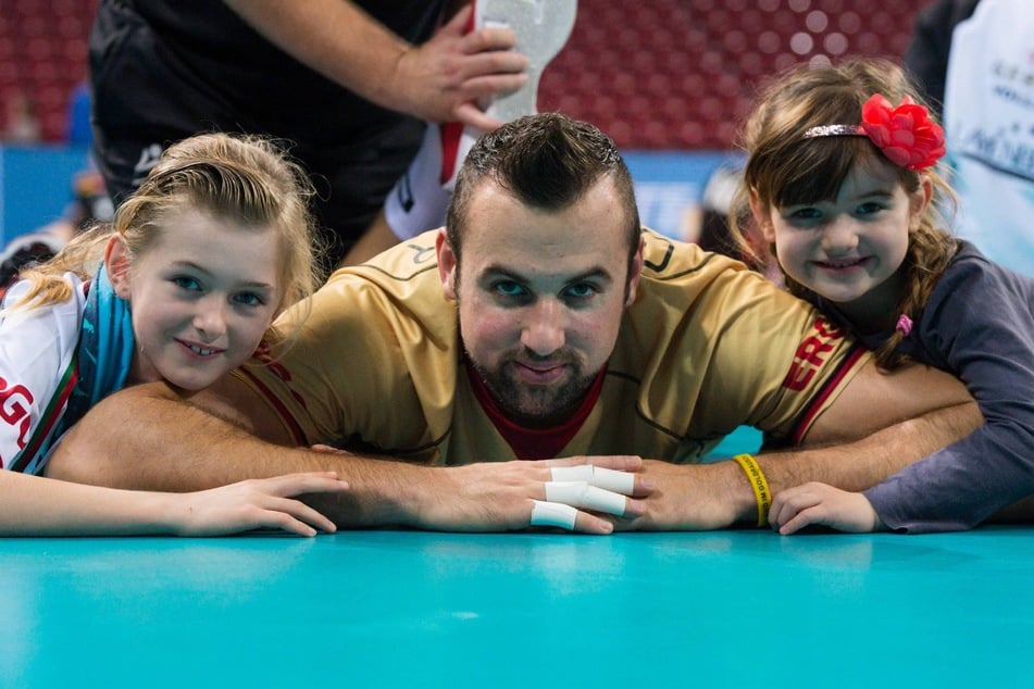
POLYGON ((951 37, 944 98, 959 235, 1034 275, 1034 2, 981 0, 951 37))

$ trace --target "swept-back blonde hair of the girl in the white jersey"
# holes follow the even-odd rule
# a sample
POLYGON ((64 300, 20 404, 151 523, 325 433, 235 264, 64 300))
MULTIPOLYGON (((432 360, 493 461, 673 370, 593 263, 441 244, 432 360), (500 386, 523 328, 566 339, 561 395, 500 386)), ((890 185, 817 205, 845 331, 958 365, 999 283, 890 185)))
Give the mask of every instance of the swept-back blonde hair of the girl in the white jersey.
MULTIPOLYGON (((244 226, 273 227, 281 236, 278 277, 283 291, 278 311, 300 301, 321 283, 314 221, 309 200, 314 191, 286 149, 257 136, 202 134, 171 146, 140 187, 115 211, 110 225, 96 225, 74 237, 58 254, 23 272, 28 292, 16 306, 41 306, 71 297, 67 272, 88 279, 103 261, 114 233, 130 256, 149 251, 163 231, 174 231, 169 217, 197 209, 216 220, 244 226)), ((297 320, 300 325, 303 318, 297 320)), ((271 328, 270 343, 294 337, 271 328)))

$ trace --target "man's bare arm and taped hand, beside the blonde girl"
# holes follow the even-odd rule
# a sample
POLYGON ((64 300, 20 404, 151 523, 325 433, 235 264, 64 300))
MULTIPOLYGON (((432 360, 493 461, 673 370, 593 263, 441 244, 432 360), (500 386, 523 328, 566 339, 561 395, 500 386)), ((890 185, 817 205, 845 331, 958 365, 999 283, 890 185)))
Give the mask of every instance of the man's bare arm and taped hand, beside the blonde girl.
MULTIPOLYGON (((182 492, 246 478, 334 471, 348 481, 348 490, 333 498, 307 496, 306 502, 339 527, 506 531, 528 528, 534 501, 546 499, 551 467, 586 461, 433 467, 314 451, 287 447, 289 439, 277 416, 233 377, 190 400, 188 404, 161 385, 116 392, 90 410, 62 440, 48 475, 116 488, 182 492)), ((640 466, 638 458, 628 456, 593 458, 593 463, 633 472, 640 466)), ((634 494, 646 497, 650 491, 638 483, 634 494)), ((628 514, 640 511, 631 499, 625 509, 628 514)), ((611 526, 583 510, 573 529, 608 534, 611 526)))

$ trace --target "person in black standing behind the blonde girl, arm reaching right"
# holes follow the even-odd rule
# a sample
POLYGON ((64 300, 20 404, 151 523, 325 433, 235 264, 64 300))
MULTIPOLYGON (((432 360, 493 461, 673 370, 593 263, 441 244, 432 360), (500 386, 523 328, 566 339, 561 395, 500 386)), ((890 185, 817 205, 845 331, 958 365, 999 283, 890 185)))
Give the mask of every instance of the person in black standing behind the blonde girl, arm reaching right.
POLYGON ((513 32, 465 34, 471 8, 449 18, 453 4, 100 0, 95 150, 115 203, 174 141, 212 129, 272 135, 292 143, 316 186, 335 266, 408 166, 424 121, 494 128, 477 102, 526 82, 513 32))

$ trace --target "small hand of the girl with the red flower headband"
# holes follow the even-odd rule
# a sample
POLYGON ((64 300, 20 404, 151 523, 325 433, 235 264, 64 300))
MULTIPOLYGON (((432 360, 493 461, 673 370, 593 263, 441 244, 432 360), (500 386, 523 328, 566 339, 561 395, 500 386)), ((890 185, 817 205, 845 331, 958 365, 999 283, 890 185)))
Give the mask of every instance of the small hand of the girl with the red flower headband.
POLYGON ((852 534, 883 528, 865 496, 814 481, 776 493, 769 524, 784 536, 812 524, 852 534))

